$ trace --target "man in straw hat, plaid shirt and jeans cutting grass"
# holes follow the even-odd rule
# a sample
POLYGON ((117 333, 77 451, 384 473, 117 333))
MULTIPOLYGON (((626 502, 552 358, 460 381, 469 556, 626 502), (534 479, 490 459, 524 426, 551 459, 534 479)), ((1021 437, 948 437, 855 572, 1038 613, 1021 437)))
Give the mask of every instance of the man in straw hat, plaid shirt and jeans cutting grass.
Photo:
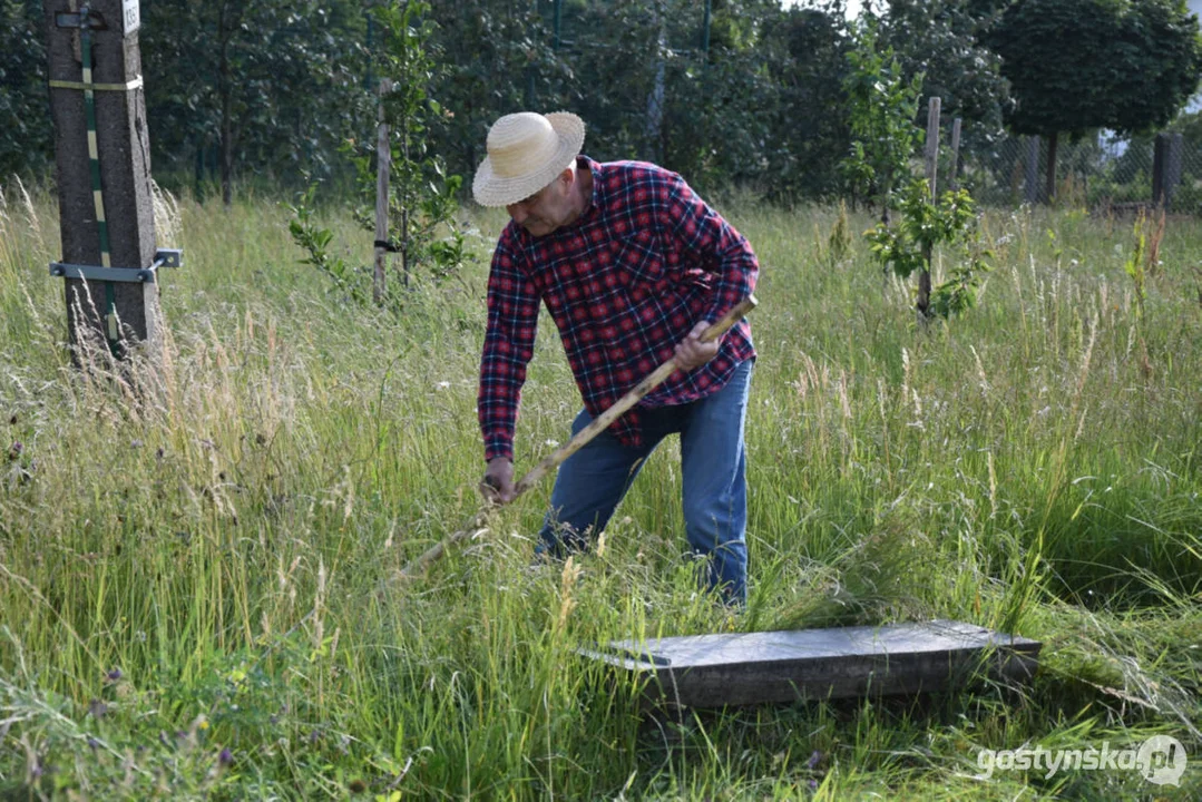
POLYGON ((644 459, 680 435, 685 534, 709 586, 746 599, 743 440, 755 349, 746 320, 701 333, 755 287, 746 239, 676 173, 581 155, 575 114, 520 113, 488 132, 472 194, 504 206, 488 280, 478 415, 482 486, 513 498, 513 430, 540 301, 559 327, 584 399, 583 429, 659 364, 680 369, 559 468, 540 553, 582 548, 605 529, 644 459))

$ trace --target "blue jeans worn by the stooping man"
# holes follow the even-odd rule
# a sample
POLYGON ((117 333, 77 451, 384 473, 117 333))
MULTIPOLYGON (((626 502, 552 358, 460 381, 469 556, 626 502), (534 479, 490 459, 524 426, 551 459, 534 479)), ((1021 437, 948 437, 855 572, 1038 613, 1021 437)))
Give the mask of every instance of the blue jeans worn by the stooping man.
MULTIPOLYGON (((608 430, 559 467, 538 553, 564 557, 585 548, 613 516, 647 457, 668 434, 680 435, 685 536, 708 558, 708 584, 727 601, 746 601, 746 447, 743 441, 752 360, 734 369, 720 391, 691 404, 639 409, 643 445, 633 448, 608 430)), ((582 410, 572 435, 591 422, 582 410)))

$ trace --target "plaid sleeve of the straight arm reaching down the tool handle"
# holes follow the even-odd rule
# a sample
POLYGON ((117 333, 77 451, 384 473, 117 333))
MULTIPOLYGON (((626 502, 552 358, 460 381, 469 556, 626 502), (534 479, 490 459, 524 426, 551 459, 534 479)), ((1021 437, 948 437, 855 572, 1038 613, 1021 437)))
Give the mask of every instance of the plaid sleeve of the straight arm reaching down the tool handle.
POLYGON ((476 398, 486 461, 513 459, 513 430, 526 363, 534 356, 538 301, 537 289, 523 269, 523 257, 513 246, 507 227, 496 243, 488 274, 488 328, 476 398))

